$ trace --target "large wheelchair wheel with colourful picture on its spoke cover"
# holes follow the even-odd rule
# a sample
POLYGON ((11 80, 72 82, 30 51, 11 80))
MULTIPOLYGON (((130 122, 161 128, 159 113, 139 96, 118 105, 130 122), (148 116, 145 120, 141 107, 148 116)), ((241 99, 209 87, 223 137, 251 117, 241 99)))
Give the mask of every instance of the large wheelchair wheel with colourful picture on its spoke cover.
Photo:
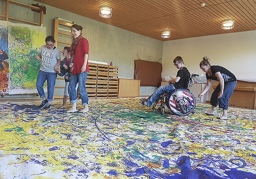
POLYGON ((188 115, 196 107, 196 99, 189 90, 174 90, 166 101, 167 107, 176 115, 188 115))

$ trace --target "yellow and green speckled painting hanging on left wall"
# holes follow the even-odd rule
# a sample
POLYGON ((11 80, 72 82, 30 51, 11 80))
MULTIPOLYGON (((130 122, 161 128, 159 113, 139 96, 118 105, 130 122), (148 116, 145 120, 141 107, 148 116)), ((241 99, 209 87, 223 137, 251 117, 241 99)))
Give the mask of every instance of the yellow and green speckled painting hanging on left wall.
MULTIPOLYGON (((0 21, 0 24, 5 23, 6 21, 0 21)), ((7 27, 8 53, 6 55, 9 63, 6 68, 9 72, 9 74, 7 72, 9 81, 5 92, 37 93, 36 78, 40 62, 35 60, 35 56, 39 54, 40 46, 45 44, 46 28, 11 22, 8 22, 7 27)))

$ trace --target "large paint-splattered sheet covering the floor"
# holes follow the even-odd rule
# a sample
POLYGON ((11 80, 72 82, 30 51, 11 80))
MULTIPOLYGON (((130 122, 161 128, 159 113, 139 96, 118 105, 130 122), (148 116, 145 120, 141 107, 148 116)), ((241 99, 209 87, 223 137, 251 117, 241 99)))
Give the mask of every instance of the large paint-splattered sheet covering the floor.
POLYGON ((0 178, 256 178, 256 111, 229 108, 222 120, 197 104, 161 115, 138 101, 92 100, 88 113, 1 104, 0 178))

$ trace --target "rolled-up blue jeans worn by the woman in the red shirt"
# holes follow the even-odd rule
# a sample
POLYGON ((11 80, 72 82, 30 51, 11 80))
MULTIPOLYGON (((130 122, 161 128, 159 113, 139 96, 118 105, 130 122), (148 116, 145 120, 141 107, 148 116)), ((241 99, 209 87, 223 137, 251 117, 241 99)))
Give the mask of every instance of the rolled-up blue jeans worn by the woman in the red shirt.
POLYGON ((76 85, 79 83, 79 93, 81 94, 82 105, 89 103, 88 94, 86 92, 86 78, 89 72, 83 72, 79 74, 72 74, 68 85, 68 94, 70 103, 77 103, 76 85))

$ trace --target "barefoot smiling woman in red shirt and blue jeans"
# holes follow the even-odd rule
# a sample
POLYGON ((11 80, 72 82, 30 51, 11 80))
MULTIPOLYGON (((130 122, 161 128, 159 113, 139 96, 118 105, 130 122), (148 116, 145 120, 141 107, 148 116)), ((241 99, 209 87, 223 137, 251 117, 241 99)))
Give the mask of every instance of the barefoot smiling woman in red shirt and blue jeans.
POLYGON ((72 72, 70 84, 68 85, 68 94, 72 108, 68 110, 68 113, 76 112, 76 85, 79 84, 79 93, 81 94, 82 105, 84 108, 80 112, 88 112, 88 94, 86 92, 86 78, 89 73, 88 55, 89 55, 89 43, 86 38, 82 36, 82 26, 74 24, 71 27, 71 34, 74 37, 74 42, 70 46, 72 56, 74 57, 74 65, 70 69, 72 72))

